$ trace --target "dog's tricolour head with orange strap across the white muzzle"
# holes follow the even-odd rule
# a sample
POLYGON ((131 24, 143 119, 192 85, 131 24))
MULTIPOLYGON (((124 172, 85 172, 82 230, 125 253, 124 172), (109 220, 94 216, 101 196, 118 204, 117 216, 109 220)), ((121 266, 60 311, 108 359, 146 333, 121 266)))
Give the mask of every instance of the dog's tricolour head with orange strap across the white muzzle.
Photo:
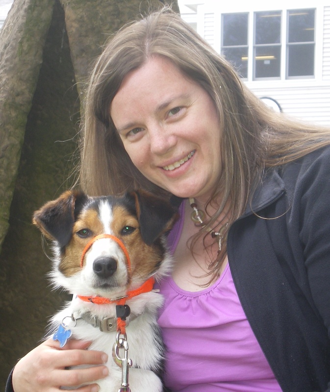
POLYGON ((36 211, 33 223, 55 242, 52 280, 56 286, 80 295, 109 296, 168 271, 164 234, 176 218, 167 201, 144 191, 122 197, 68 191, 36 211), (92 241, 102 234, 118 241, 92 241))

